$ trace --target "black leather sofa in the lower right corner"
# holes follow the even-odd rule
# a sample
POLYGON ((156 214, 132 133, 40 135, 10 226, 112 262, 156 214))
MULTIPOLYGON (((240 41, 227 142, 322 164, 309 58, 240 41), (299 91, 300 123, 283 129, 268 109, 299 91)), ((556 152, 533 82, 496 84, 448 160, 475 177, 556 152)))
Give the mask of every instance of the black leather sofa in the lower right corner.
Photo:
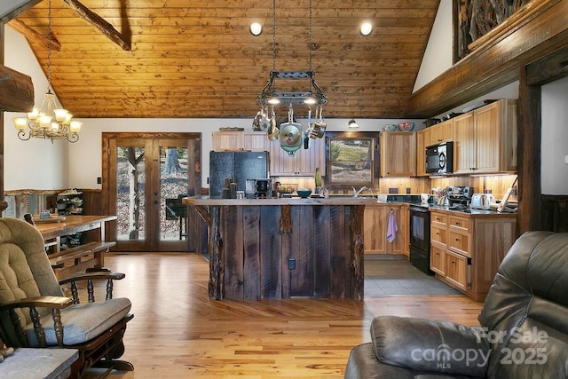
POLYGON ((376 317, 345 378, 567 378, 568 233, 528 232, 509 249, 477 320, 376 317))

